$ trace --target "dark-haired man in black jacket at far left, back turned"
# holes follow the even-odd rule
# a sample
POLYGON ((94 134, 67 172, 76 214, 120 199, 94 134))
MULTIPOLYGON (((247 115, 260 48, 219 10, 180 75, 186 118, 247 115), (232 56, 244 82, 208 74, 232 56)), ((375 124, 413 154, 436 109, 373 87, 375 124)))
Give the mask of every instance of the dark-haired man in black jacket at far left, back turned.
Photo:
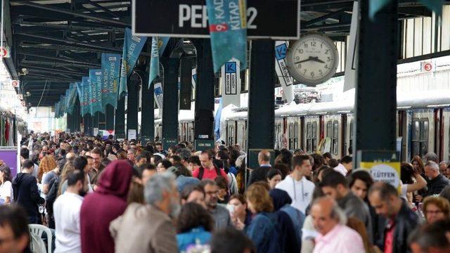
POLYGON ((15 202, 27 212, 28 223, 41 224, 41 214, 38 205, 45 200, 39 195, 37 179, 32 176, 34 164, 31 160, 25 160, 22 172, 13 179, 13 191, 15 202))

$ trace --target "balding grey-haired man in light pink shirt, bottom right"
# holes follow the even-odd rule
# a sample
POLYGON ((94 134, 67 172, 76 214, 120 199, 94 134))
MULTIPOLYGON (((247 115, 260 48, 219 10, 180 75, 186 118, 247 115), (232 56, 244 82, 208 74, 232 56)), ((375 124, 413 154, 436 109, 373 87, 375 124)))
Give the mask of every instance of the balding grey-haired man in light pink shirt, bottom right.
POLYGON ((361 235, 345 226, 342 209, 330 197, 321 197, 311 206, 316 237, 314 253, 318 252, 366 252, 361 235))

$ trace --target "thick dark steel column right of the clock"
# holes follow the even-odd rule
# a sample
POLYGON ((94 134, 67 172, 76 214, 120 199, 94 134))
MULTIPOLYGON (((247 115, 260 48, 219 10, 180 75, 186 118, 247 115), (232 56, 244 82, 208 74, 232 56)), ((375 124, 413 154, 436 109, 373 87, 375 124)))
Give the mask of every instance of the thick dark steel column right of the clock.
POLYGON ((359 2, 359 62, 355 94, 354 167, 360 162, 396 160, 398 0, 374 20, 369 1, 359 2), (375 36, 374 36, 375 34, 375 36))

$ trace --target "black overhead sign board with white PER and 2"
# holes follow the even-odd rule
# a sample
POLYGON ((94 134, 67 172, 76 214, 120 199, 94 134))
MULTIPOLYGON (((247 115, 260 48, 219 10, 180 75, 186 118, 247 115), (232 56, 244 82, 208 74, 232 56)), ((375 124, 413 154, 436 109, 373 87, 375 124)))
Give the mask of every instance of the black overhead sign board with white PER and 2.
MULTIPOLYGON (((135 35, 210 37, 205 0, 133 0, 132 8, 135 35)), ((300 0, 248 0, 247 27, 248 39, 299 39, 300 0)))

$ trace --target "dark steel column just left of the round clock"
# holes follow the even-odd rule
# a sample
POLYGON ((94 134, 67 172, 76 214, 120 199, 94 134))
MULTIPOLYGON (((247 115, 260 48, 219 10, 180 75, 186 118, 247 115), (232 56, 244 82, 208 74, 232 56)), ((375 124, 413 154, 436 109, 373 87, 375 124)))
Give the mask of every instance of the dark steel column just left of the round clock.
POLYGON ((252 169, 259 166, 259 150, 274 149, 274 52, 274 41, 252 41, 247 126, 249 167, 252 169))

